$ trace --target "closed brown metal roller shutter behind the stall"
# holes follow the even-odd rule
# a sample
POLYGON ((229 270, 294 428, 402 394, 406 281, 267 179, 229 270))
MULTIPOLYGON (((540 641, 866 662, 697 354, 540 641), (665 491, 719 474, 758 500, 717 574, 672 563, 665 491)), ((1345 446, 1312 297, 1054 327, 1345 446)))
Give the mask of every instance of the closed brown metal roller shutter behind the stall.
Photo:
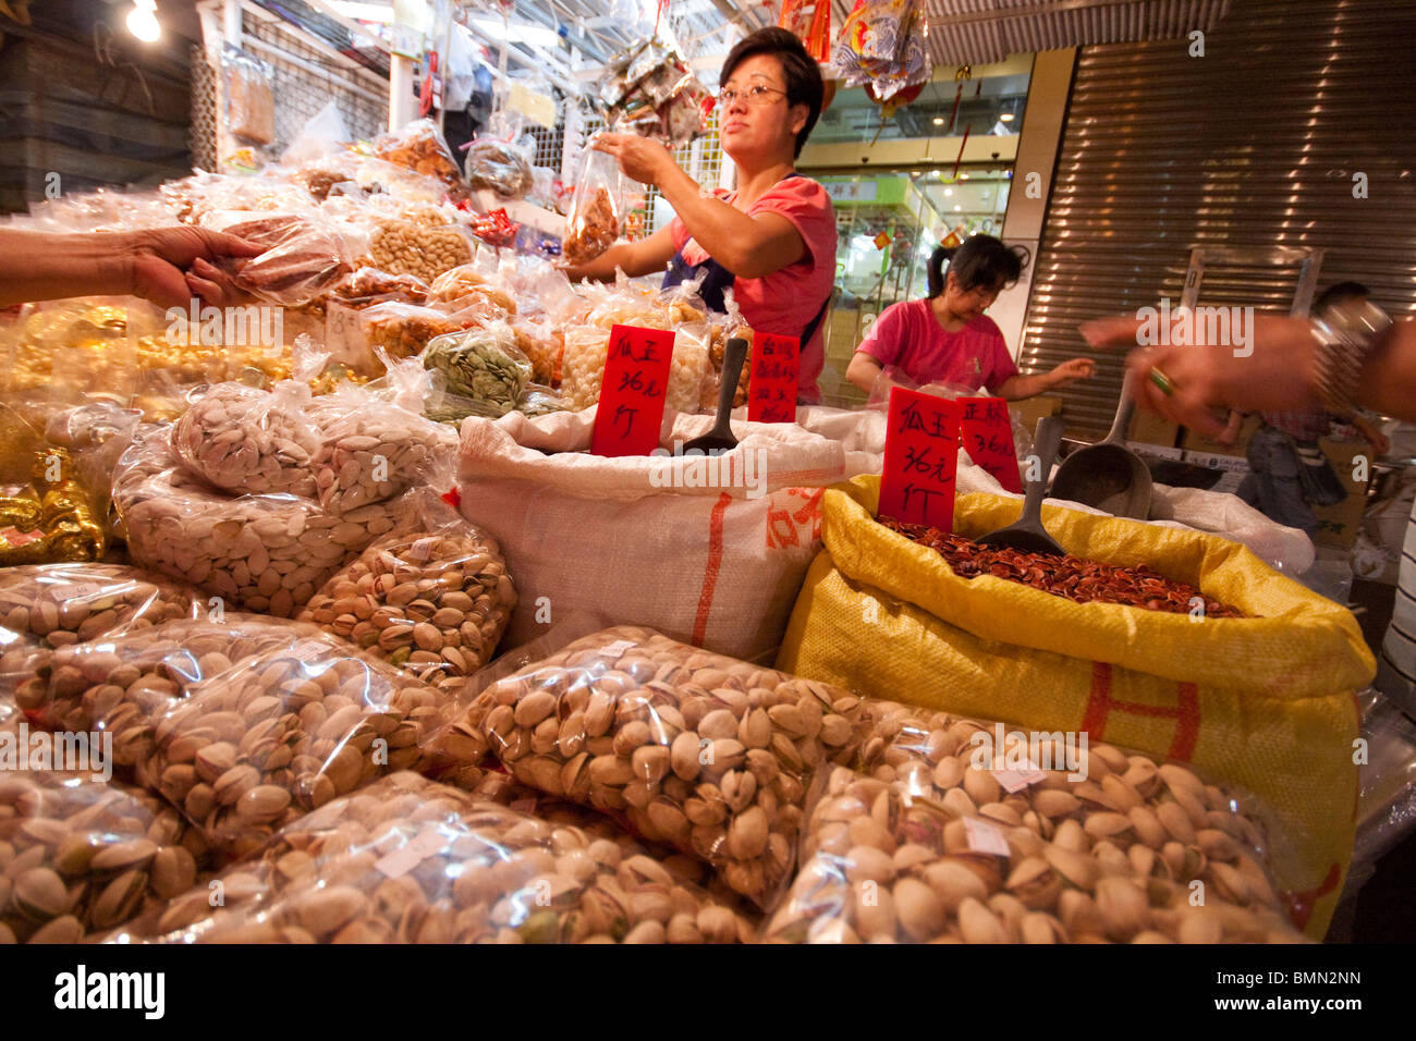
MULTIPOLYGON (((1318 246, 1416 312, 1416 0, 1243 0, 1189 42, 1083 48, 1020 367, 1086 353, 1076 326, 1178 303, 1199 245, 1318 246), (1368 197, 1354 197, 1365 173, 1368 197)), ((1294 272, 1206 272, 1201 303, 1287 310, 1294 272)), ((1069 432, 1110 426, 1121 360, 1058 394, 1069 432)))

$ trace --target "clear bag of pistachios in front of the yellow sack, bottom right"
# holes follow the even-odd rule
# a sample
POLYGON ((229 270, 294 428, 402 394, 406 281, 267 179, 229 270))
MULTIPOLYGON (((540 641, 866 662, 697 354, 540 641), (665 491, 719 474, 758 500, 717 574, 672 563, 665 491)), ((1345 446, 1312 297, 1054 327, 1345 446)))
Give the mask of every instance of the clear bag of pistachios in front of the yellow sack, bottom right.
POLYGON ((1112 745, 862 711, 862 772, 827 779, 765 940, 1303 942, 1253 799, 1112 745))

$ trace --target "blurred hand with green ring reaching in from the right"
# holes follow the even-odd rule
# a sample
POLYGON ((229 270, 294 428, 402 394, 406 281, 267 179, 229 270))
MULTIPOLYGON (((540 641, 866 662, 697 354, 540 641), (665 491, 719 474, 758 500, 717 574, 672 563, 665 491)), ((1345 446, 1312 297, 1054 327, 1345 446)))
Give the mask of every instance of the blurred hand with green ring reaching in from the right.
POLYGON ((1317 392, 1315 341, 1308 323, 1279 314, 1256 314, 1232 343, 1206 343, 1202 323, 1191 330, 1199 343, 1143 346, 1147 323, 1116 316, 1083 323, 1082 336, 1102 350, 1131 350, 1136 401, 1167 419, 1216 436, 1225 423, 1211 409, 1283 412, 1321 408, 1317 392), (1160 370, 1171 392, 1151 380, 1160 370))

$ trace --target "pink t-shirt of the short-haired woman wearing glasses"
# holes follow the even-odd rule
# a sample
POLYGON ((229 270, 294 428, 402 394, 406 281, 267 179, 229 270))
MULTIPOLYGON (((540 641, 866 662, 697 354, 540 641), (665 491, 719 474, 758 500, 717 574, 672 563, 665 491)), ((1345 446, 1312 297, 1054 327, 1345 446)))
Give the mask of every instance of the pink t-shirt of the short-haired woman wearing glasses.
MULTIPOLYGON (((732 203, 736 193, 718 197, 732 203)), ((835 285, 835 208, 831 197, 810 177, 777 181, 762 198, 752 204, 748 215, 782 214, 801 237, 806 255, 760 279, 735 279, 732 296, 742 309, 742 317, 759 333, 801 336, 807 323, 817 316, 831 297, 835 285)), ((688 237, 680 218, 670 225, 674 249, 681 251, 688 263, 702 263, 708 254, 688 237)), ((797 395, 806 402, 818 402, 821 389, 816 385, 826 365, 823 317, 801 351, 801 375, 797 395)))

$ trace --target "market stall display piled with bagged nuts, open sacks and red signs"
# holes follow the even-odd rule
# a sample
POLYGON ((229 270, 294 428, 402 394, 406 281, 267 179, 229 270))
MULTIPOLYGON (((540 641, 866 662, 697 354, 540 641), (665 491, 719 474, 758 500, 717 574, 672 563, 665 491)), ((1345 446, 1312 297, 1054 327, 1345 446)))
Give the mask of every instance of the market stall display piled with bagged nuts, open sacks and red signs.
MULTIPOLYGON (((828 68, 927 76, 895 7, 908 52, 828 68)), ((558 59, 535 130, 507 54, 459 153, 292 129, 222 52, 215 169, 11 220, 255 252, 239 302, 0 323, 0 942, 1321 940, 1416 759, 1361 773, 1301 533, 1158 484, 986 550, 1056 455, 1001 399, 799 406, 731 290, 566 278, 633 200, 585 149, 552 188, 547 130, 691 147, 711 72, 558 59)))

